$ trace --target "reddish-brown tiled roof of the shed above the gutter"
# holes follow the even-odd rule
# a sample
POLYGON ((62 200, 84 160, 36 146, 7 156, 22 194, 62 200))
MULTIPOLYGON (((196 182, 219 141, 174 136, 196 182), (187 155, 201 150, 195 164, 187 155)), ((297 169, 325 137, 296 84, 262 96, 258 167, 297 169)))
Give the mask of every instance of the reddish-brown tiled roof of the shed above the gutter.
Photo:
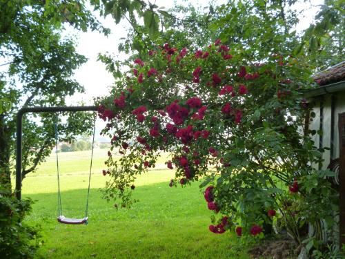
POLYGON ((326 84, 333 84, 339 81, 345 80, 345 61, 342 61, 331 68, 317 73, 313 76, 314 80, 319 86, 325 86, 326 84))

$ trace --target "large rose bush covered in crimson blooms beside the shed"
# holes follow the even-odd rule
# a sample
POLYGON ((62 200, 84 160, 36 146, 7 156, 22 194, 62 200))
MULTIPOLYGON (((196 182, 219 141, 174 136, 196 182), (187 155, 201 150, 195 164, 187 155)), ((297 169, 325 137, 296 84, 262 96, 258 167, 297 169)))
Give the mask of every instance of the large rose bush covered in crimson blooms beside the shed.
POLYGON ((329 218, 332 173, 311 166, 321 160, 304 128, 302 90, 313 83, 303 63, 277 53, 247 61, 218 39, 196 51, 164 44, 129 66, 99 106, 102 133, 123 154, 106 161, 108 200, 130 204, 135 176, 165 151, 170 186, 207 186, 213 233, 262 237, 279 219, 301 243, 306 222, 329 218))

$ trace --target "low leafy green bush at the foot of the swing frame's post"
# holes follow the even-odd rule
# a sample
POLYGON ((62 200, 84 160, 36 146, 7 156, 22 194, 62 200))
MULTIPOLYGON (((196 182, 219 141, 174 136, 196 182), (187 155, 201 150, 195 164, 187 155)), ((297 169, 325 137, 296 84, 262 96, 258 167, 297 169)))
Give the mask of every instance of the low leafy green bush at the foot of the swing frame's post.
POLYGON ((32 200, 17 200, 0 186, 0 258, 33 258, 39 246, 39 227, 23 223, 31 205, 32 200))

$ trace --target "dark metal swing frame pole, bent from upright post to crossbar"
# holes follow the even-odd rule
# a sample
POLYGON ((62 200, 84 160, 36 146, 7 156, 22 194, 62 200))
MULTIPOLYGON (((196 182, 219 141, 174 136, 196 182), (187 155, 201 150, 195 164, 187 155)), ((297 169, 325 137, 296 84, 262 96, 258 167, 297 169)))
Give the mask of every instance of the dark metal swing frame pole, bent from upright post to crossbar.
POLYGON ((97 111, 98 106, 56 106, 56 107, 24 107, 17 113, 17 135, 16 135, 16 197, 21 200, 21 158, 23 139, 23 115, 26 113, 57 113, 63 111, 97 111))

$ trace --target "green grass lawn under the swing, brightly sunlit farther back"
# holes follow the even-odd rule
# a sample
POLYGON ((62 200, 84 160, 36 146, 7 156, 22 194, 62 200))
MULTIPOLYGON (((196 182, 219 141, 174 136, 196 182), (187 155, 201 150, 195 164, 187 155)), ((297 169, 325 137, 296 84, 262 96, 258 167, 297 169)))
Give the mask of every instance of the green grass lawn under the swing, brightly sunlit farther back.
MULTIPOLYGON (((61 153, 63 214, 83 217, 88 186, 87 152, 61 153)), ((141 175, 135 183, 131 209, 116 211, 101 199, 99 188, 106 150, 95 154, 92 170, 89 224, 59 224, 55 159, 50 157, 37 173, 23 180, 23 196, 36 200, 28 217, 41 224, 44 244, 37 258, 249 258, 237 237, 208 231, 210 215, 197 184, 170 188, 173 171, 163 169, 141 175)))

